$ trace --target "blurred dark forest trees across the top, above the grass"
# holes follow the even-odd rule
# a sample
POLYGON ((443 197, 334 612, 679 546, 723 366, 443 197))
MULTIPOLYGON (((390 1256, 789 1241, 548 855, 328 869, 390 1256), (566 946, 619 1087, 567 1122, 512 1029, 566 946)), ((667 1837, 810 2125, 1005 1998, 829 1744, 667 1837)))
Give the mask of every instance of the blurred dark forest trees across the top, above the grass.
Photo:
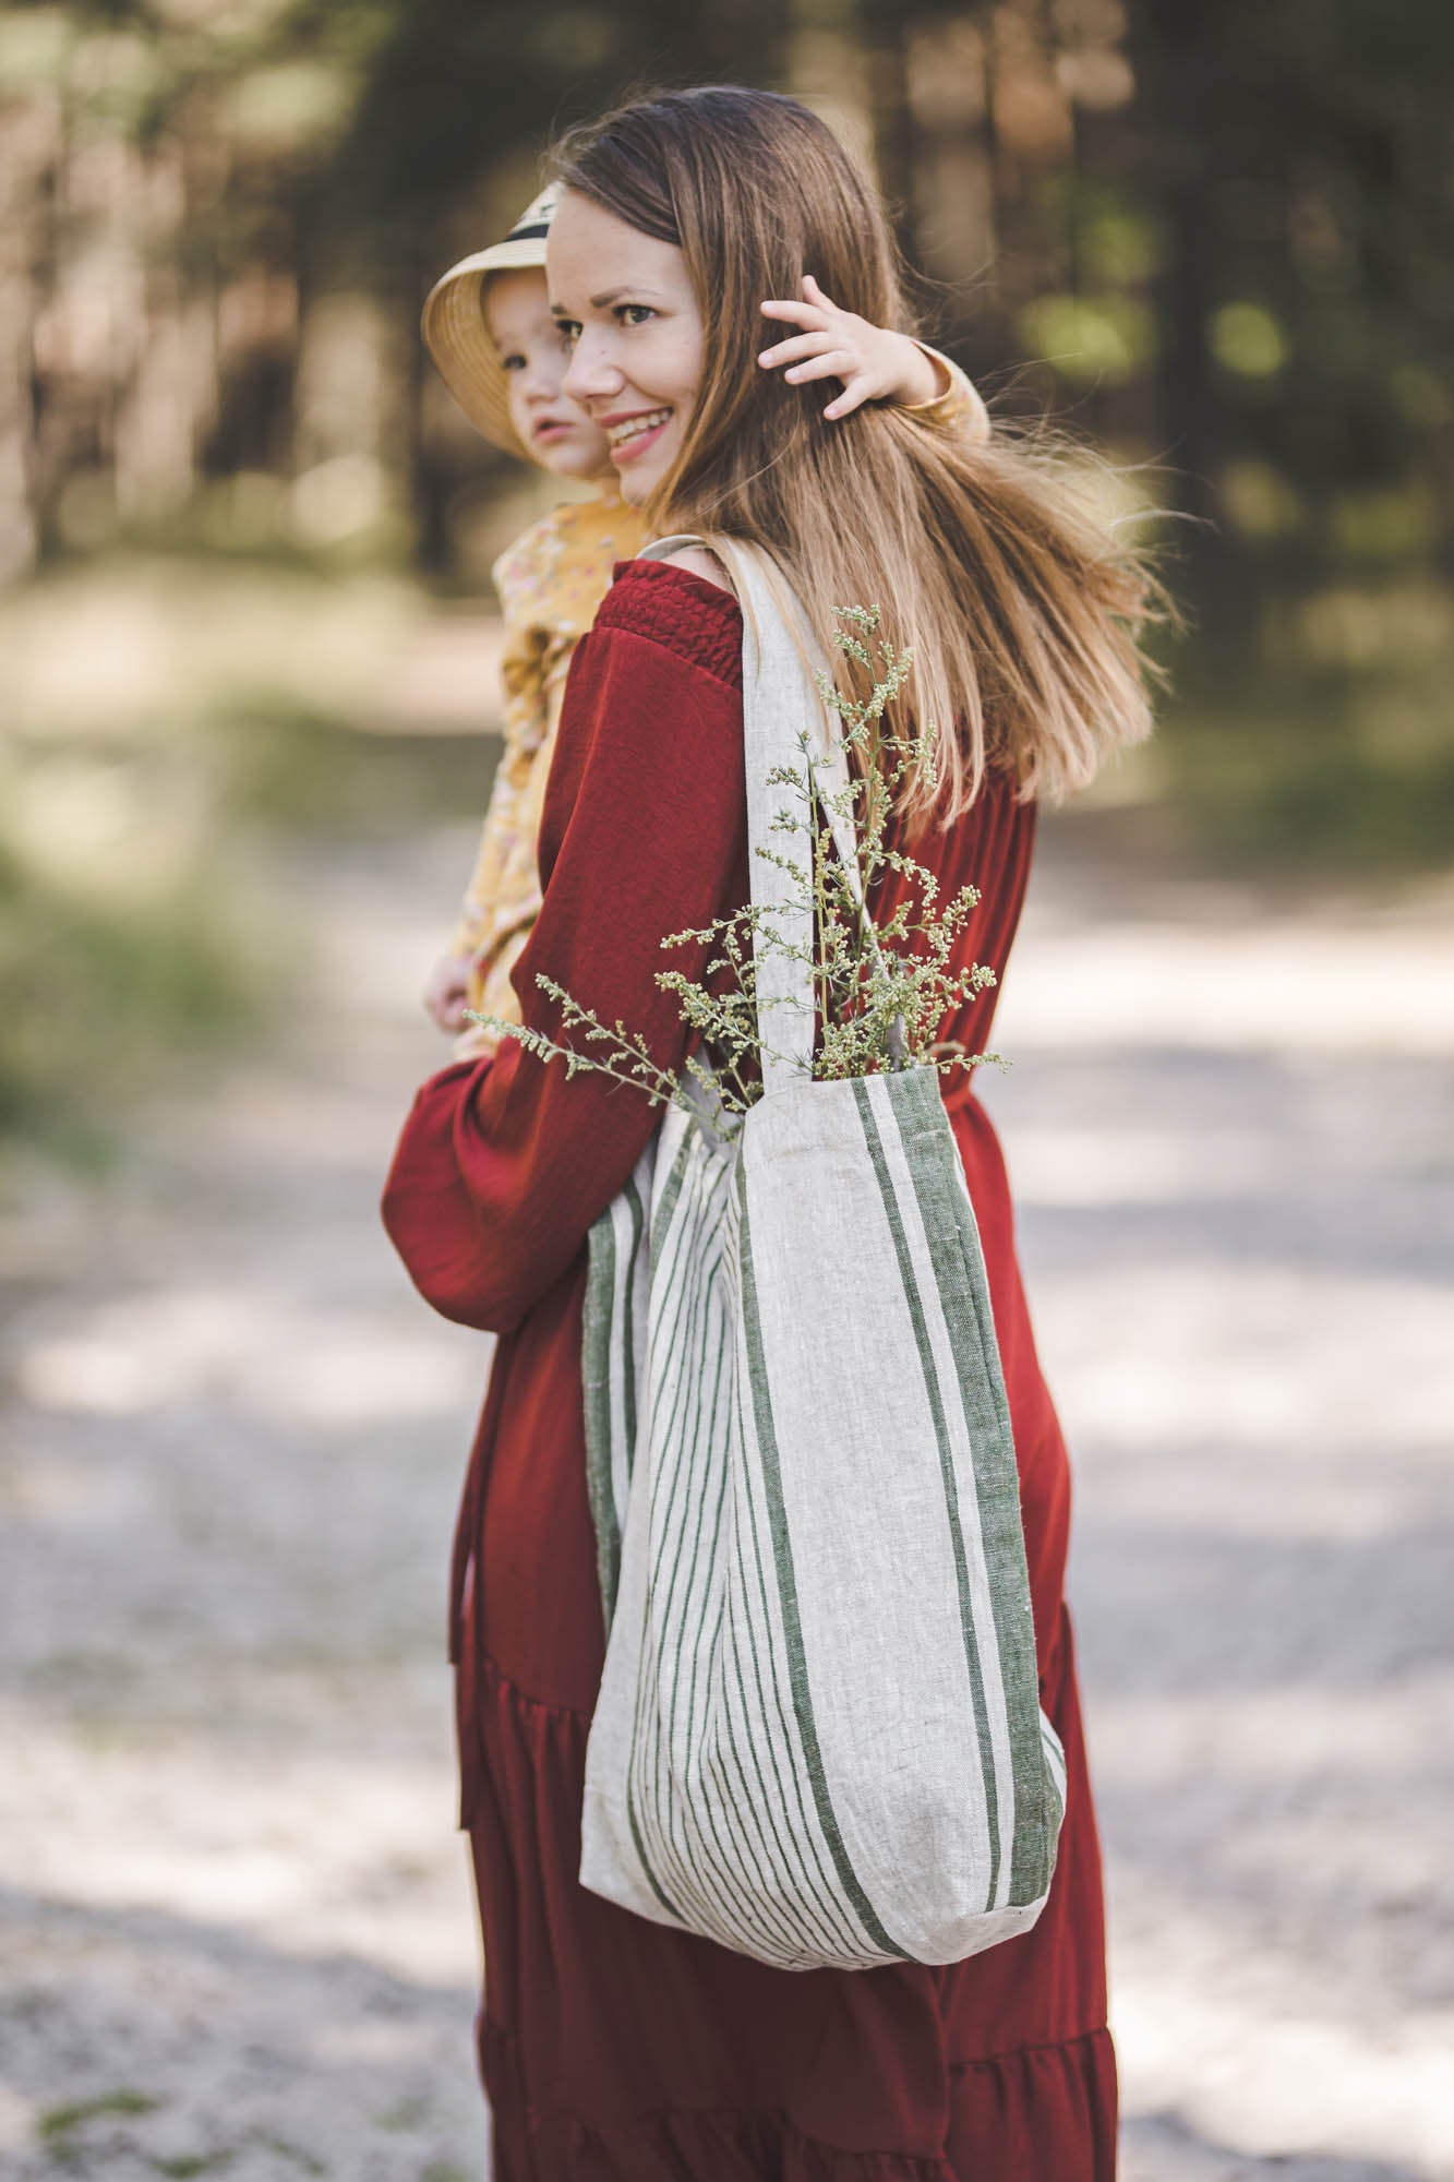
MULTIPOLYGON (((107 369, 76 356, 85 299, 68 297, 74 260, 105 240, 155 290, 129 299, 153 345, 181 292, 212 316, 218 384, 188 458, 155 458, 188 471, 172 502, 251 478, 251 508, 234 495, 242 528, 371 552, 386 535, 448 574, 469 487, 500 465, 424 369, 426 288, 502 229, 561 124, 637 83, 710 76, 797 87, 871 144, 945 338, 991 380, 1044 358, 1033 399, 1166 463, 1172 500, 1207 524, 1194 583, 1220 604, 1268 576, 1297 589, 1360 561, 1450 554, 1454 11, 1441 0, 0 9, 0 113, 28 103, 55 120, 52 140, 0 135, 37 253, 41 546, 100 543, 107 471, 146 467, 105 445, 133 430, 135 329, 111 358, 109 423, 59 430, 76 377, 107 369), (107 168, 107 144, 131 164, 107 168), (347 295, 382 319, 347 325, 336 353, 323 340, 312 380, 325 384, 303 384, 317 314, 347 295), (367 380, 369 343, 380 384, 336 415, 343 358, 367 380), (70 351, 55 369, 50 347, 70 351), (1266 484, 1251 500, 1249 471, 1266 484), (74 491, 87 473, 90 502, 74 491), (258 480, 275 484, 269 511, 258 480)), ((116 286, 105 301, 116 314, 116 286)), ((166 497, 122 487, 111 532, 166 497)))

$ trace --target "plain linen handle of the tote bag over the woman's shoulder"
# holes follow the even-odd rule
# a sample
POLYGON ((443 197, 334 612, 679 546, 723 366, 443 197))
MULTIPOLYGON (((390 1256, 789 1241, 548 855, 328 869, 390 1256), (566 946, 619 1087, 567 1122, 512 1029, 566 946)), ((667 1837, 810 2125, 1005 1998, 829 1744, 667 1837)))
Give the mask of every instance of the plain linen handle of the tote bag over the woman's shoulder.
MULTIPOLYGON (((764 912, 766 923, 782 943, 760 954, 755 975, 762 1091, 768 1095, 812 1076, 817 1023, 812 906, 801 899, 792 873, 782 871, 773 862, 777 855, 795 860, 795 842, 790 834, 775 825, 782 812, 782 788, 771 783, 775 770, 801 768, 803 751, 799 735, 803 729, 810 735, 819 807, 847 875, 849 895, 865 919, 869 943, 875 951, 878 934, 862 899, 854 820, 841 807, 849 786, 847 753, 812 679, 814 666, 825 670, 823 650, 775 563, 762 548, 749 546, 744 539, 707 539, 679 532, 655 539, 642 548, 637 559, 668 561, 688 546, 701 548, 723 563, 742 604, 742 757, 747 770, 751 906, 764 912), (777 578, 775 585, 766 576, 768 567, 777 578), (786 598, 797 620, 797 642, 782 598, 786 598), (768 853, 760 855, 760 849, 768 853)), ((895 1036, 891 1039, 891 1052, 895 1047, 899 1047, 895 1052, 897 1060, 902 1056, 902 1023, 895 1026, 895 1036)))

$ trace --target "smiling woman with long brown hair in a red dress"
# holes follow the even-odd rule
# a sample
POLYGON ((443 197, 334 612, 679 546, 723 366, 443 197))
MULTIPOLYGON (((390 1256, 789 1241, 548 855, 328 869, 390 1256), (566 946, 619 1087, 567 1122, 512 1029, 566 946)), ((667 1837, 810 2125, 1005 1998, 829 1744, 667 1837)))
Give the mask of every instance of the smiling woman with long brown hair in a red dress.
MULTIPOLYGON (((611 441, 657 535, 720 530, 775 554, 819 628, 878 602, 917 646, 941 722, 934 777, 897 814, 915 853, 982 908, 969 951, 1004 969, 1035 796, 1146 729, 1133 626, 1144 583, 1074 513, 1061 476, 1000 441, 862 408, 827 434, 808 391, 744 369, 747 297, 812 273, 902 323, 873 192, 795 100, 642 100, 565 144, 550 292, 565 391, 611 441), (950 727, 950 722, 954 722, 950 727)), ((742 624, 720 567, 622 565, 565 694, 541 827, 544 906, 515 969, 683 1056, 659 938, 747 899, 742 624)), ((886 897, 880 908, 893 903, 886 897)), ((699 975, 690 949, 675 964, 699 975)), ((980 1002, 985 1008, 985 1002, 980 1002)), ((945 1039, 987 1041, 961 1010, 945 1039)), ((568 1043, 568 1039, 563 1039, 568 1043)), ((1041 1702, 1068 1815, 1039 1925, 948 1968, 788 1975, 646 1925, 576 1881, 583 1754, 603 1663, 581 1425, 589 1224, 653 1111, 598 1076, 506 1050, 432 1078, 384 1215, 437 1309, 502 1340, 456 1543, 465 1824, 487 1955, 480 2058, 502 2182, 1107 2182, 1100 1861, 1061 1597, 1065 1449, 1026 1316, 1004 1167, 969 1082, 950 1093, 980 1222, 1022 1473, 1041 1702)), ((860 1329, 862 1331, 862 1329, 860 1329)))

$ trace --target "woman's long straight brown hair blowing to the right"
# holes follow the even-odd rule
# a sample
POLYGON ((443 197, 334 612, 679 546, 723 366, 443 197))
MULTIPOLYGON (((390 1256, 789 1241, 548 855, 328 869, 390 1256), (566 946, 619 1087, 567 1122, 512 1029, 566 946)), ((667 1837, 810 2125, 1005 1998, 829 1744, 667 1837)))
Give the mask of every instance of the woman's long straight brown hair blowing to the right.
POLYGON ((1137 631, 1157 594, 1083 465, 1002 428, 972 447, 889 404, 823 423, 823 382, 788 386, 758 364, 758 305, 801 295, 803 273, 908 332, 878 192, 817 113, 736 85, 666 92, 563 137, 552 172, 677 244, 707 327, 696 408, 648 521, 764 546, 823 639, 834 607, 882 609, 884 635, 915 652, 913 709, 937 722, 939 781, 915 783, 913 820, 954 818, 989 764, 1024 796, 1063 794, 1148 733, 1137 631))

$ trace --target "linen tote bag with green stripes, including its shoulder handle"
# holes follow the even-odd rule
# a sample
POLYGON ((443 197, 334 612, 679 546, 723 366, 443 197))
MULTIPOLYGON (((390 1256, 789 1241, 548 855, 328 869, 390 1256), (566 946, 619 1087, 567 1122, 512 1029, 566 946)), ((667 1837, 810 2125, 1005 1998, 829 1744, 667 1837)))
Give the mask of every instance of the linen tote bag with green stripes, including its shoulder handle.
MULTIPOLYGON (((801 775, 806 731, 851 862, 843 751, 764 556, 712 550, 742 600, 753 903, 810 949, 758 853, 768 775, 801 775)), ((814 1082, 786 951, 758 1006, 762 1100, 727 1141, 705 1098, 668 1106, 589 1237, 609 1643, 581 1881, 777 1968, 958 1962, 1039 1916, 1065 1794, 985 1259, 937 1071, 814 1082)))

